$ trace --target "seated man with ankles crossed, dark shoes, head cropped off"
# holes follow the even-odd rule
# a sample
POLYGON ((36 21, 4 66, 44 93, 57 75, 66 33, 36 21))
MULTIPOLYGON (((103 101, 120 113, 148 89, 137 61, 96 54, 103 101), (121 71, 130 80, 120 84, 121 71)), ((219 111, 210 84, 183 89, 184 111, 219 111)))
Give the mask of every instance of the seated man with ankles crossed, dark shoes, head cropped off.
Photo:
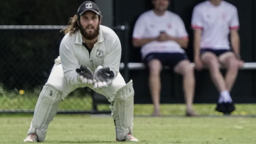
POLYGON ((219 91, 216 110, 230 114, 235 110, 230 91, 239 66, 243 65, 239 55, 237 9, 223 0, 207 0, 195 6, 191 25, 194 30, 195 68, 201 70, 204 66, 209 69, 219 91), (221 74, 220 64, 226 67, 225 77, 221 74))

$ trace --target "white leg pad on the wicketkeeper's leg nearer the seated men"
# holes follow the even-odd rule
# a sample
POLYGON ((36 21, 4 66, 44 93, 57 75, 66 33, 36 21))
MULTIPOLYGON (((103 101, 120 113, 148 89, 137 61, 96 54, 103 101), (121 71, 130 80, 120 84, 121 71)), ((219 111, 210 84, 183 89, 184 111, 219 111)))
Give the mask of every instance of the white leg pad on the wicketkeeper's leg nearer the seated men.
POLYGON ((111 104, 111 115, 116 126, 117 140, 122 141, 128 133, 132 134, 134 116, 134 89, 132 80, 117 91, 111 104))

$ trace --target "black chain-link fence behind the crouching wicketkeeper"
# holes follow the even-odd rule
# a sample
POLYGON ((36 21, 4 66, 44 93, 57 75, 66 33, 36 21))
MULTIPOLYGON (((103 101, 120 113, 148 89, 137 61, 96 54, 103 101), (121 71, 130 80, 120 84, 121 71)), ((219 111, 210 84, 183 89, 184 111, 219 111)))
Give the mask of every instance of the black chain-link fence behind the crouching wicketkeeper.
MULTIPOLYGON (((46 83, 54 59, 59 55, 59 44, 65 26, 0 26, 0 112, 33 113, 35 102, 46 83), (24 94, 25 92, 25 94, 24 94)), ((128 81, 127 41, 129 27, 115 26, 122 44, 122 74, 128 81)), ((85 108, 92 105, 90 89, 73 92, 60 106, 59 113, 109 113, 85 108), (83 107, 84 105, 84 107, 83 107)), ((92 106, 91 106, 92 107, 92 106)))

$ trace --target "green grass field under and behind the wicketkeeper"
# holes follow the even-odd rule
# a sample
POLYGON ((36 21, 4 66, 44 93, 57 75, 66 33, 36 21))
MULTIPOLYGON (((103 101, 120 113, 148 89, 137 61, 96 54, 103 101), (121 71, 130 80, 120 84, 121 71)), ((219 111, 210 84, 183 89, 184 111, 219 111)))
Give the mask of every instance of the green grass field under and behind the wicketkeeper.
MULTIPOLYGON (((19 94, 0 89, 0 109, 33 109, 40 90, 19 94)), ((74 93, 61 110, 91 110, 90 96, 74 93)), ((138 144, 256 144, 256 104, 236 104, 231 116, 214 111, 215 104, 195 104, 200 116, 185 117, 184 104, 162 104, 161 117, 151 117, 151 104, 134 105, 134 136, 138 144)), ((102 104, 98 110, 109 110, 102 104)), ((0 114, 0 144, 23 144, 32 114, 0 114)), ((124 144, 115 142, 110 115, 57 114, 44 143, 124 144)))

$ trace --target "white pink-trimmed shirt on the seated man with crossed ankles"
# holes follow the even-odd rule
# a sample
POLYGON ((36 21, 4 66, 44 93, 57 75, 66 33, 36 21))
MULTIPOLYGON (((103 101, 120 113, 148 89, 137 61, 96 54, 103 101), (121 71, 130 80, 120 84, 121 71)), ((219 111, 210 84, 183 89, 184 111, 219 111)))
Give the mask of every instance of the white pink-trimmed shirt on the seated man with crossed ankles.
POLYGON ((237 9, 224 0, 219 6, 214 6, 207 0, 195 6, 191 27, 202 30, 201 49, 230 50, 230 30, 239 28, 237 9))

